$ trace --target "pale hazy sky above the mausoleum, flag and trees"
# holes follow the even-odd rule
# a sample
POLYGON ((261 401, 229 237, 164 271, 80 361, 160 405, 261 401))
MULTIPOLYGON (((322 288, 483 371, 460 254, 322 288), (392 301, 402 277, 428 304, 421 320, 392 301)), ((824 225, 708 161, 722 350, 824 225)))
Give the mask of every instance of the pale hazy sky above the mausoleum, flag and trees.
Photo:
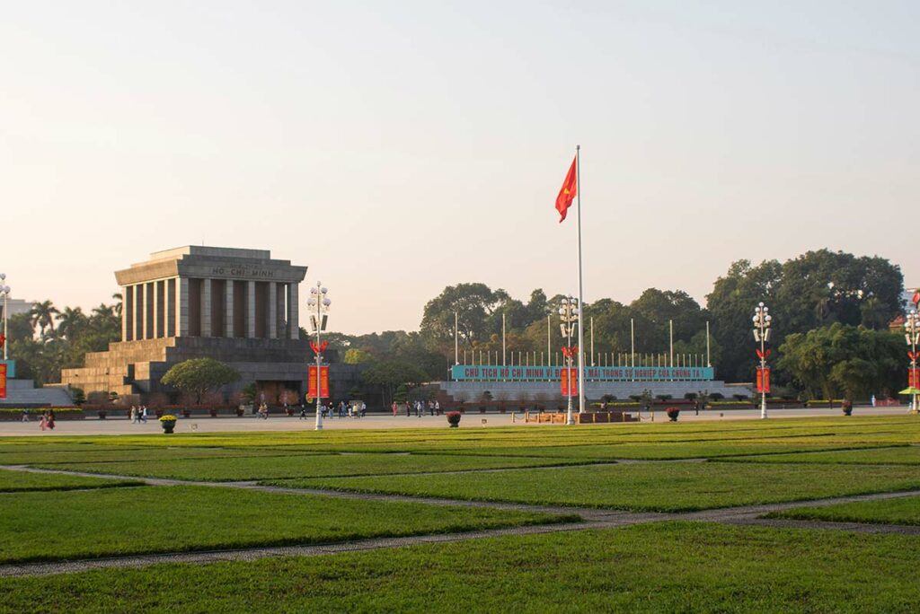
POLYGON ((355 334, 576 293, 576 144, 586 301, 822 247, 920 284, 916 2, 0 5, 14 298, 88 309, 185 244, 309 267, 355 334))

